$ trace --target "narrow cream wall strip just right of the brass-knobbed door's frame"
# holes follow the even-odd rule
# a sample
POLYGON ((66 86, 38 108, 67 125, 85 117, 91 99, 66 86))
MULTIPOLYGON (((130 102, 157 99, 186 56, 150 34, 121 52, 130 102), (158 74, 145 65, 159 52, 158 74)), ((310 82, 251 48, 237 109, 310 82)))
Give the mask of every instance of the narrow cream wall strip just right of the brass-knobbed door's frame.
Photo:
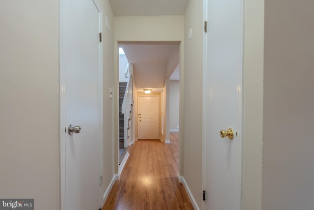
POLYGON ((244 1, 243 210, 262 209, 264 1, 244 1))

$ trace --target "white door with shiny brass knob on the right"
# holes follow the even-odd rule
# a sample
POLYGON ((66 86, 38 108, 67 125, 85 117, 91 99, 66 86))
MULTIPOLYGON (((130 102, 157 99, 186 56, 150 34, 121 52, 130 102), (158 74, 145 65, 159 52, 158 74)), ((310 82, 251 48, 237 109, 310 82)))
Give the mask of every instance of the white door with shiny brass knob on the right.
POLYGON ((240 210, 243 4, 207 2, 206 209, 240 210), (233 139, 220 136, 228 128, 234 129, 233 139))

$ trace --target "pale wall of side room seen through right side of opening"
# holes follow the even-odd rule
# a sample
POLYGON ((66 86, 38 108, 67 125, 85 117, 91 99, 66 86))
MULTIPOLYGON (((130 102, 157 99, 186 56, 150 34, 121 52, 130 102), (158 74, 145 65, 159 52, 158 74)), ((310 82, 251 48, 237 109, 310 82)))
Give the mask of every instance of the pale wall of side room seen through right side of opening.
POLYGON ((170 131, 179 130, 180 81, 170 80, 170 131))

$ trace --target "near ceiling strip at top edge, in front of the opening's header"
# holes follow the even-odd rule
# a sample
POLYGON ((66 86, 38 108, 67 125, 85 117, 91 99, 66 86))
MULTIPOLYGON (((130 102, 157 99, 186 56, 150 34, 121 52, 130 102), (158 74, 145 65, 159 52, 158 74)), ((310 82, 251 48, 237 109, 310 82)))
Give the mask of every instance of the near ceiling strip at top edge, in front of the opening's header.
POLYGON ((188 0, 109 0, 115 16, 184 15, 188 0))

